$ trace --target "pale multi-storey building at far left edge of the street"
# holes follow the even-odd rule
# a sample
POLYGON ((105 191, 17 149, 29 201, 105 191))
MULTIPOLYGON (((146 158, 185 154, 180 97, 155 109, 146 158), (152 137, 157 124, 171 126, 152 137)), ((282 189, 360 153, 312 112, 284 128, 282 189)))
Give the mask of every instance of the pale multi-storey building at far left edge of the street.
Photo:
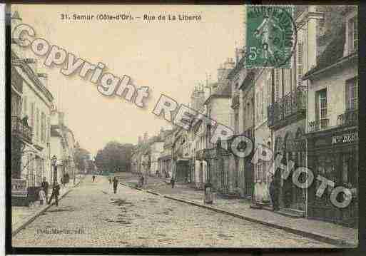
MULTIPOLYGON (((11 26, 21 24, 17 11, 11 26)), ((51 182, 50 116, 54 97, 36 59, 11 39, 11 177, 26 180, 34 195, 43 177, 51 182)))

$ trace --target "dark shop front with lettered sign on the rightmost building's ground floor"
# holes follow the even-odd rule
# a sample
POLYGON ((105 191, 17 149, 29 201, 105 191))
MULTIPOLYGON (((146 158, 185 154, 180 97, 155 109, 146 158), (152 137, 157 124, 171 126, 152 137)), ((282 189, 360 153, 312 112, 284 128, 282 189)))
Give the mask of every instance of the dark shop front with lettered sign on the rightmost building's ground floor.
MULTIPOLYGON (((321 181, 314 180, 309 188, 307 215, 310 218, 336 222, 354 227, 358 222, 358 128, 333 128, 307 134, 308 168, 314 177, 320 175, 337 186, 352 191, 352 201, 345 208, 337 208, 330 200, 332 188, 327 187, 322 197, 316 194, 321 181)), ((342 202, 340 193, 337 201, 342 202)))

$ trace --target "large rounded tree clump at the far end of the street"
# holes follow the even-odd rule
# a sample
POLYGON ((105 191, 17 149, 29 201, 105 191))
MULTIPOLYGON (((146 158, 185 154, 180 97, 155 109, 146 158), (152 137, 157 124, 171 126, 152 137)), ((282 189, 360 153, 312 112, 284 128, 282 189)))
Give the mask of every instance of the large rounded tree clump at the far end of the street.
POLYGON ((129 171, 132 148, 132 144, 118 143, 116 141, 107 143, 96 154, 96 167, 109 172, 129 171))

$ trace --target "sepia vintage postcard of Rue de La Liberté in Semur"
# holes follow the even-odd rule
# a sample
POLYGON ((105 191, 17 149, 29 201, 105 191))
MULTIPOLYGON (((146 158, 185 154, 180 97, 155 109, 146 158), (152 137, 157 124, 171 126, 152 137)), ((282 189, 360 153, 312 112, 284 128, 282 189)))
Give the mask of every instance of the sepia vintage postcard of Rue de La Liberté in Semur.
POLYGON ((9 16, 12 247, 357 247, 357 6, 9 16))

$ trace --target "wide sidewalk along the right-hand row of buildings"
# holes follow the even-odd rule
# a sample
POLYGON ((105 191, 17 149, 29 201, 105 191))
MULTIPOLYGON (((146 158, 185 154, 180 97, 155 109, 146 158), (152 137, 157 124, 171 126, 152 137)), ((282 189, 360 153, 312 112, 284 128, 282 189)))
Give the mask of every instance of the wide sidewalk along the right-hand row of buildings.
POLYGON ((208 208, 216 212, 240 217, 270 227, 280 228, 298 235, 312 237, 322 242, 345 247, 357 247, 358 244, 358 230, 354 228, 342 227, 320 220, 287 217, 269 210, 253 209, 250 208, 250 202, 244 199, 228 200, 215 196, 212 205, 205 205, 203 203, 203 190, 195 190, 183 184, 176 184, 172 189, 163 180, 160 183, 157 181, 158 178, 150 178, 150 180, 153 182, 144 188, 148 193, 154 193, 173 200, 179 200, 183 203, 208 208))

